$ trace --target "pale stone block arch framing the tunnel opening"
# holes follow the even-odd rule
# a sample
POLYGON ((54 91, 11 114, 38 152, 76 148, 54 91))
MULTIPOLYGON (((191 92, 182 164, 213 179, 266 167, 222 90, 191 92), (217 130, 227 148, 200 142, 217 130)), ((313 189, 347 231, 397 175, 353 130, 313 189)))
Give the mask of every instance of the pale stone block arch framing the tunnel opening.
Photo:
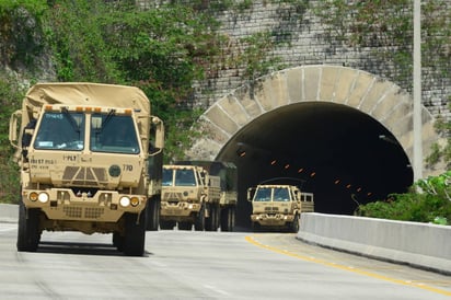
MULTIPOLYGON (((285 69, 245 84, 213 103, 200 117, 205 132, 188 151, 192 159, 217 159, 228 141, 258 117, 300 103, 333 103, 357 109, 390 131, 413 162, 413 100, 393 82, 362 70, 339 66, 302 66, 285 69)), ((423 113, 423 149, 439 140, 435 118, 423 113)), ((443 170, 423 166, 424 175, 443 170)))

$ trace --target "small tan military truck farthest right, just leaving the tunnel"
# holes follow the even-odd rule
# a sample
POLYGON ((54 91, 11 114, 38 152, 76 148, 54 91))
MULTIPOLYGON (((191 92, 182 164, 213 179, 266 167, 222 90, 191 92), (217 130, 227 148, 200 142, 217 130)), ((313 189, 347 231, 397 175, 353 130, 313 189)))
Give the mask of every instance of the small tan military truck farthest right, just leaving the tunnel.
POLYGON ((263 184, 247 189, 247 200, 252 201, 252 227, 262 229, 288 229, 299 231, 302 212, 314 211, 312 193, 304 193, 294 185, 263 184))

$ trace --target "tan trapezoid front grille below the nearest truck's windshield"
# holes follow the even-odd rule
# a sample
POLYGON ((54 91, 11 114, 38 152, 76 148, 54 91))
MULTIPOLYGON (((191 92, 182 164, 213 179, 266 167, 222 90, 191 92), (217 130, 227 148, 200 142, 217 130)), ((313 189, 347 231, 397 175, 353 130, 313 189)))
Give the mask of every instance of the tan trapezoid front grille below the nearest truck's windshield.
POLYGON ((62 175, 63 184, 93 186, 106 182, 106 170, 103 168, 67 166, 62 175))

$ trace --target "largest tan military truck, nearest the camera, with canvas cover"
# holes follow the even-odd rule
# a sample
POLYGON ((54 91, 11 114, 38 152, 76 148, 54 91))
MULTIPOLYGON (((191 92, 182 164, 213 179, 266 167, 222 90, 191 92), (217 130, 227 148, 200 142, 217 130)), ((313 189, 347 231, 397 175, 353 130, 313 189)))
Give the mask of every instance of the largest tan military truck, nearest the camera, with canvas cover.
POLYGON ((36 251, 43 231, 79 231, 144 253, 159 223, 164 128, 141 90, 38 83, 9 134, 21 171, 18 251, 36 251))

